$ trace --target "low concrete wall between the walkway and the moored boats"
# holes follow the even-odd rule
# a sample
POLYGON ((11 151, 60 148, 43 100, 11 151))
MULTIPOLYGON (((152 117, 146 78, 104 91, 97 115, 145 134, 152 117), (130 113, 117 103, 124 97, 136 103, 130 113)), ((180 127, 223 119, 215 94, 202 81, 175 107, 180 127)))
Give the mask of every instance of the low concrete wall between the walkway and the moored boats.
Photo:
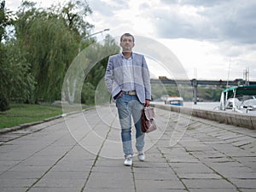
POLYGON ((185 108, 178 106, 169 106, 169 105, 154 105, 155 108, 161 108, 177 113, 185 113, 195 117, 210 119, 218 121, 219 123, 236 125, 245 127, 248 129, 256 130, 256 115, 247 114, 247 113, 232 113, 226 111, 218 110, 206 110, 198 108, 185 108))

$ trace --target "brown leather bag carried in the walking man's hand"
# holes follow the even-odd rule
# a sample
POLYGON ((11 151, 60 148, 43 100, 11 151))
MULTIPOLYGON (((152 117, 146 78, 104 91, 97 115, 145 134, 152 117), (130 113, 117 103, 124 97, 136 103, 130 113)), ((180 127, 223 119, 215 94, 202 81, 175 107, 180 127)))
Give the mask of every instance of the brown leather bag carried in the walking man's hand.
POLYGON ((142 110, 142 131, 151 132, 156 130, 155 120, 154 120, 154 108, 144 107, 142 110))

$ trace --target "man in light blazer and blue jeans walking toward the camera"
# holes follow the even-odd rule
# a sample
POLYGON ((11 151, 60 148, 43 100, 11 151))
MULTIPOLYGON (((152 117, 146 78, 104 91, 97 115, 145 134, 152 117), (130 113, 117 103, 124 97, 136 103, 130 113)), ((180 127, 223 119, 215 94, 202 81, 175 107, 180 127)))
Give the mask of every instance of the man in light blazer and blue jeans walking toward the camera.
POLYGON ((132 165, 131 117, 136 128, 137 157, 138 160, 145 160, 145 134, 141 130, 141 111, 143 106, 149 106, 151 100, 148 65, 144 55, 132 52, 134 42, 130 33, 121 36, 122 53, 109 56, 105 74, 108 91, 118 108, 125 166, 132 165))

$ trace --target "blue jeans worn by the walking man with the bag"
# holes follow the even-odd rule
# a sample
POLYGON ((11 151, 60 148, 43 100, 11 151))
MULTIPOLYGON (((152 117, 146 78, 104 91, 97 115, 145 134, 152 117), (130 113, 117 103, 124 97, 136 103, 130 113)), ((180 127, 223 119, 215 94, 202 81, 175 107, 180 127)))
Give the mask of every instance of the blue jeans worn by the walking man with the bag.
POLYGON ((143 104, 138 101, 137 96, 124 94, 116 101, 116 107, 119 113, 119 122, 121 125, 121 138, 125 156, 133 154, 131 146, 131 116, 136 128, 136 148, 137 151, 143 151, 145 134, 141 128, 141 113, 143 104))

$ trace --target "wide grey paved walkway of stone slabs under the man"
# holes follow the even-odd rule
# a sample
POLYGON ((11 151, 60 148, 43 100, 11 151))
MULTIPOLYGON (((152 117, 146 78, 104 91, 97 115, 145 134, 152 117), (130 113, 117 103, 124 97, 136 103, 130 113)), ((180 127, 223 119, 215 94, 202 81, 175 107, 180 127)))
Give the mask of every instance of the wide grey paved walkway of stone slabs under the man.
POLYGON ((156 108, 129 167, 115 107, 98 109, 0 135, 1 192, 256 191, 256 131, 156 108))

